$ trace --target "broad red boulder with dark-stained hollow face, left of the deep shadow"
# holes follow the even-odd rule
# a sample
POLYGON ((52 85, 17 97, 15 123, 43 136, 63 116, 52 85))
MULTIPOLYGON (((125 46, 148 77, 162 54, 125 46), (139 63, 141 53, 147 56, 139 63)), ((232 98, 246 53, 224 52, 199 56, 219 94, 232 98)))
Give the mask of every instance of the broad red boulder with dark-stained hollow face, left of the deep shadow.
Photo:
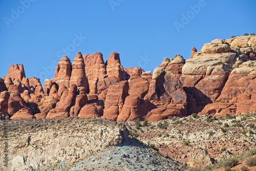
POLYGON ((178 77, 164 67, 156 67, 147 98, 156 108, 148 112, 148 121, 166 119, 168 116, 186 116, 186 93, 178 77))

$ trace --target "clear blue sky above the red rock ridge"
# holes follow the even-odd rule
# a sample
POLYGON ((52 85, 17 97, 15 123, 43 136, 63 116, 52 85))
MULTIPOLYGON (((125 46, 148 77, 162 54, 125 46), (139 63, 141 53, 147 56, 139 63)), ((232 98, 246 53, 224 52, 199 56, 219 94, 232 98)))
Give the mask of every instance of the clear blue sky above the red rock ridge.
POLYGON ((256 33, 255 7, 255 0, 2 0, 0 77, 23 63, 27 77, 44 83, 60 56, 73 61, 78 51, 104 60, 118 52, 123 67, 153 72, 163 57, 187 59, 212 39, 256 33))

